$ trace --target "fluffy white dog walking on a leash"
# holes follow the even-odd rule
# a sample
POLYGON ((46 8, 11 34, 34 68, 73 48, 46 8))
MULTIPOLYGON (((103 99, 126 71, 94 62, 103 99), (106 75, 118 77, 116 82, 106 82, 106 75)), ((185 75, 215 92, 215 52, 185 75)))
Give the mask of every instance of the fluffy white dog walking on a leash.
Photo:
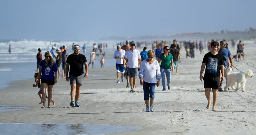
POLYGON ((253 77, 254 76, 253 72, 250 69, 244 70, 241 72, 230 73, 231 71, 232 71, 232 68, 229 67, 227 69, 228 79, 227 79, 227 84, 224 88, 224 91, 227 92, 228 88, 231 87, 231 88, 235 89, 237 92, 242 85, 242 91, 245 92, 244 86, 247 81, 247 77, 249 77, 249 78, 253 77), (237 84, 237 87, 235 88, 234 86, 236 84, 237 84))

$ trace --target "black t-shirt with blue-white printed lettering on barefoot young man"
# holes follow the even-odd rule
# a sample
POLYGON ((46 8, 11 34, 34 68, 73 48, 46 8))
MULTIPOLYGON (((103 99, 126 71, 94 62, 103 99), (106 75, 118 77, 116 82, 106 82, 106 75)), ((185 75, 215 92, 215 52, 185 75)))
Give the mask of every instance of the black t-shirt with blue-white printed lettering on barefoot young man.
POLYGON ((220 53, 213 55, 211 52, 208 52, 204 55, 203 63, 206 63, 204 77, 220 77, 220 65, 223 65, 223 57, 220 53))

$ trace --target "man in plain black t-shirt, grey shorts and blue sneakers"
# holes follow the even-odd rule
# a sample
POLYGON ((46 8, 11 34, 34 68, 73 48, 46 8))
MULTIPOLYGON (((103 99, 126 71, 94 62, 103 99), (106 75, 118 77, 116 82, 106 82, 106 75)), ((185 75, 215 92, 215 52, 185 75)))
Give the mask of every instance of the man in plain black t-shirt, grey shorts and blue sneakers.
POLYGON ((66 81, 70 82, 71 86, 71 102, 70 106, 79 107, 79 97, 80 97, 80 87, 83 85, 83 78, 88 77, 89 66, 87 64, 87 59, 83 54, 80 54, 79 45, 74 45, 73 54, 70 54, 66 61, 66 81), (70 70, 69 70, 70 65, 70 70), (85 66, 85 74, 84 74, 85 66), (69 72, 69 76, 68 76, 69 72), (83 76, 84 74, 84 76, 83 76), (75 101, 75 102, 74 102, 75 101))

